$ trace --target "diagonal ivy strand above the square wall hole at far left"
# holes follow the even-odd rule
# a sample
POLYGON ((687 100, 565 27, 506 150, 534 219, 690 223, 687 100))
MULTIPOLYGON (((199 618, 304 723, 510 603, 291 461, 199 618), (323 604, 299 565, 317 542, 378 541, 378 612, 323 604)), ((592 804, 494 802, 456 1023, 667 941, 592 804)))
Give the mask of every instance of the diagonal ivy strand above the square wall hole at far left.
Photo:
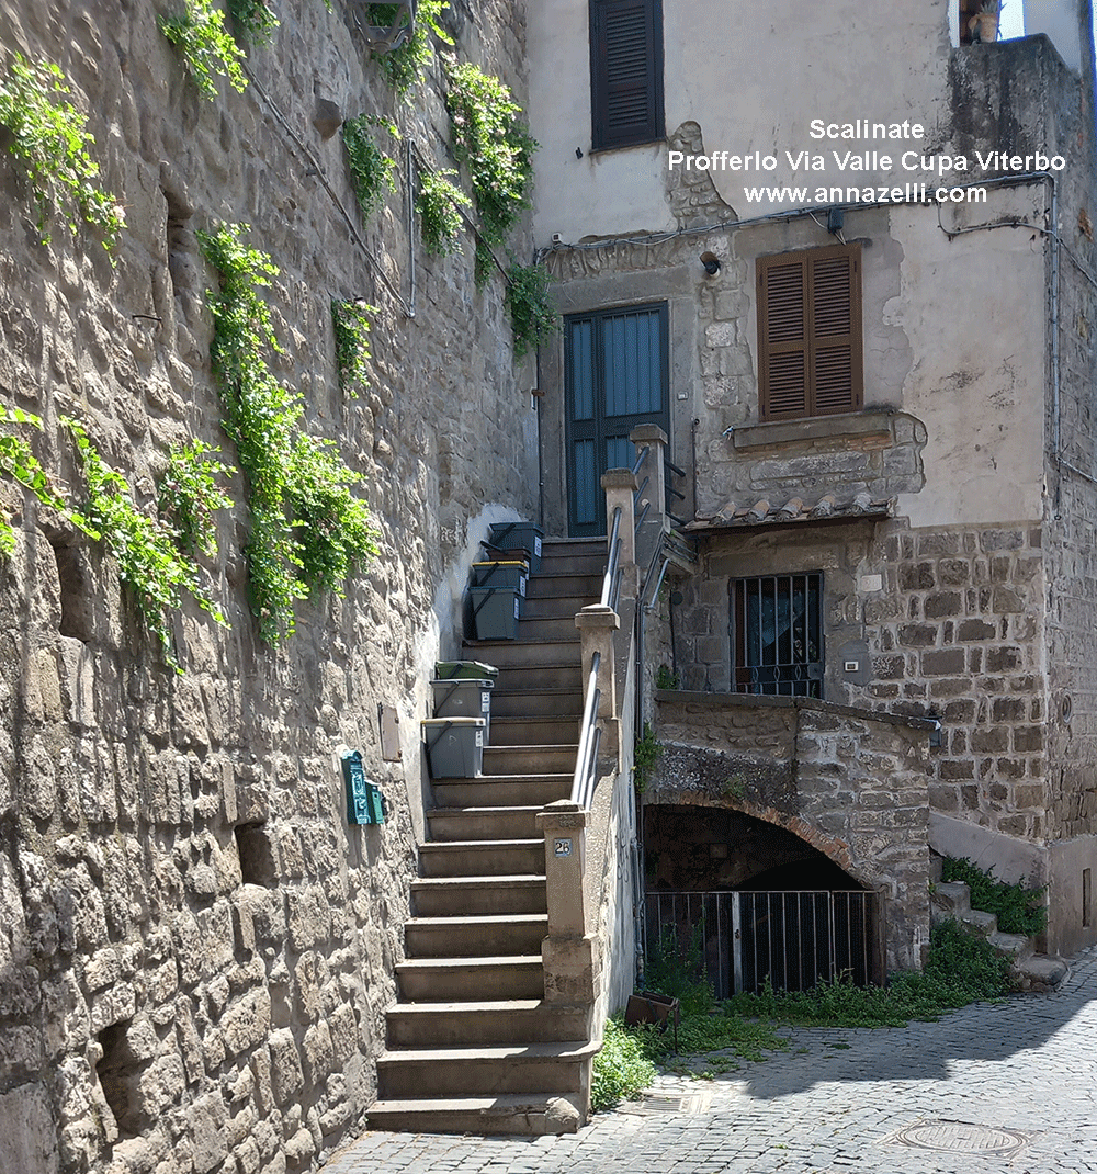
POLYGON ((68 417, 61 423, 72 432, 83 466, 87 517, 114 555, 118 578, 133 592, 145 626, 163 648, 164 660, 182 673, 168 610, 180 606, 187 591, 218 623, 226 623, 225 618, 202 591, 198 568, 180 554, 171 531, 137 508, 129 483, 107 465, 83 426, 68 417))

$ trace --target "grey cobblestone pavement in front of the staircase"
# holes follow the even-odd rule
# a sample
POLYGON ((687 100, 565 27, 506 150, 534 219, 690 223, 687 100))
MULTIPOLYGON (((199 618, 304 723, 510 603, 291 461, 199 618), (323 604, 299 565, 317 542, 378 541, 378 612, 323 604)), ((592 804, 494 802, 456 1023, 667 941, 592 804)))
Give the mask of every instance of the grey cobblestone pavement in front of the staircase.
POLYGON ((560 1138, 371 1132, 323 1174, 1097 1172, 1095 950, 1055 994, 935 1024, 791 1035, 788 1052, 712 1081, 661 1077, 649 1097, 673 1112, 618 1109, 560 1138), (950 1148, 905 1143, 905 1129, 950 1148))

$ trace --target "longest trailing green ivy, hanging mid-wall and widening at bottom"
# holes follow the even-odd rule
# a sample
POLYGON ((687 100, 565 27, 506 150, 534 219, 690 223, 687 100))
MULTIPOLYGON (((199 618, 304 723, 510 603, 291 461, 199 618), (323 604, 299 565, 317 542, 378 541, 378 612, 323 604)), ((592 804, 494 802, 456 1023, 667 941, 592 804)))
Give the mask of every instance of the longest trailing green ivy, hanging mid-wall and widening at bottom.
POLYGON ((294 627, 293 606, 313 589, 341 592, 351 568, 375 552, 360 481, 330 441, 300 432, 298 394, 271 373, 266 352, 280 353, 270 308, 259 291, 278 270, 242 241, 246 224, 197 234, 221 291, 206 297, 214 315, 211 360, 225 405, 224 429, 249 480, 251 533, 245 547, 251 608, 259 634, 280 643, 294 627))

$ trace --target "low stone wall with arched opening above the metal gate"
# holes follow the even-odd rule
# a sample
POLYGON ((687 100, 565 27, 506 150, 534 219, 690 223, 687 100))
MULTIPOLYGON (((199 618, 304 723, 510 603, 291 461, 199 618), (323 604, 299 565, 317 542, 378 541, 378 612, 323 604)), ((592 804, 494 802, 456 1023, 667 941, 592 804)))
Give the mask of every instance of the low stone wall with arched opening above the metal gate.
POLYGON ((929 728, 808 699, 658 694, 665 750, 645 803, 744 811, 886 898, 889 970, 929 933, 929 728))

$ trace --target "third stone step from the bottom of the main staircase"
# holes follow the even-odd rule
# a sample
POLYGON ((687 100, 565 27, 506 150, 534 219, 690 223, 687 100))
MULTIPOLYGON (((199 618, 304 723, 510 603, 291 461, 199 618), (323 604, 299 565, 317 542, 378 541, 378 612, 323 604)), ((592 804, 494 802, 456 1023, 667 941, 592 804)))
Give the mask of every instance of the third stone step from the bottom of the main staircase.
POLYGON ((549 1044, 581 1039, 587 1008, 542 999, 398 1003, 387 1016, 390 1048, 549 1044))

